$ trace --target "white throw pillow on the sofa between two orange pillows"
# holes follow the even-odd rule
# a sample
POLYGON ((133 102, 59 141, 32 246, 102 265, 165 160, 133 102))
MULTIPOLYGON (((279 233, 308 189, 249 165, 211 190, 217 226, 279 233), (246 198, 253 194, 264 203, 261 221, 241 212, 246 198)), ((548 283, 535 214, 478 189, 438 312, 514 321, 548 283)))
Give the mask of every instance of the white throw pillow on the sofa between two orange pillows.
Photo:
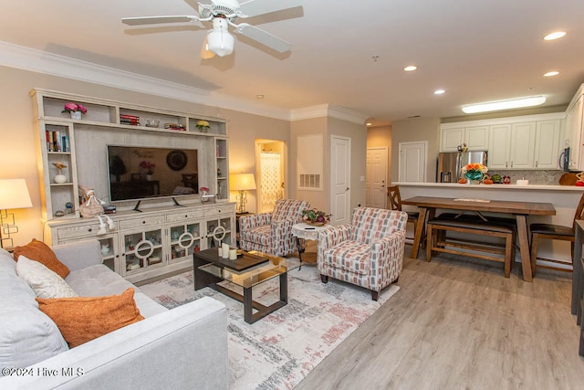
POLYGON ((45 265, 20 255, 16 262, 16 274, 35 290, 38 298, 71 298, 77 297, 65 279, 57 275, 45 265))

